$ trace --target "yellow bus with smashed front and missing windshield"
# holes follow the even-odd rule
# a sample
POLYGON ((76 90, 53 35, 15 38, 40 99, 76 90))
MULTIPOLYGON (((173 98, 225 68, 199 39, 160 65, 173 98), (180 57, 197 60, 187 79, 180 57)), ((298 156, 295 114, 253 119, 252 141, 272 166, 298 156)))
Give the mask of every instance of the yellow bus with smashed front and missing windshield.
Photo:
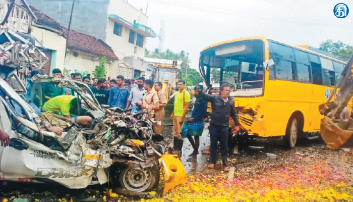
POLYGON ((283 136, 293 148, 298 137, 310 138, 320 130, 318 107, 346 64, 319 52, 266 37, 238 38, 204 48, 199 70, 207 87, 214 75, 231 86, 230 96, 249 135, 283 136))

